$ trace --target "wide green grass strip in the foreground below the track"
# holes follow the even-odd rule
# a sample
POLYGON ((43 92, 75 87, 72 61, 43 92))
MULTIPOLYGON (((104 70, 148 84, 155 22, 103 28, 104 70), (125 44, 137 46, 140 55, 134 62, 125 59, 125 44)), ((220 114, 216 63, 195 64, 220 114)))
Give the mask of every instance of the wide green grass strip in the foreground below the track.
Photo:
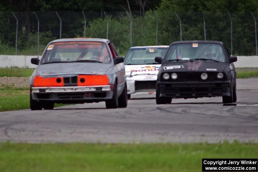
POLYGON ((0 143, 1 172, 196 172, 202 158, 257 158, 257 144, 0 143))

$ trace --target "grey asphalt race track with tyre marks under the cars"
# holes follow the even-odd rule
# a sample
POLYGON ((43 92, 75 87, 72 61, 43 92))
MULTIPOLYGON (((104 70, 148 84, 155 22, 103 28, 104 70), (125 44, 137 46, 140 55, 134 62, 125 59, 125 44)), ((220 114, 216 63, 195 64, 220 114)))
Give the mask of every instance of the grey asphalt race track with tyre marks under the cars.
POLYGON ((173 99, 131 96, 127 108, 104 102, 54 110, 0 112, 0 140, 15 142, 241 142, 258 141, 258 78, 238 79, 238 101, 221 97, 173 99))

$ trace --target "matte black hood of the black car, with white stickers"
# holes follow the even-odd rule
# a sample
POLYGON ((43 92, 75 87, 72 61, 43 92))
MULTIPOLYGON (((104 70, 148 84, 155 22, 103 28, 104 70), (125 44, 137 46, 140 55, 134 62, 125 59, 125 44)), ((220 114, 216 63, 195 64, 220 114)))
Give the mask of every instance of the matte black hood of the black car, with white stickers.
POLYGON ((187 61, 168 62, 161 65, 160 71, 164 72, 223 72, 229 64, 226 62, 187 61))

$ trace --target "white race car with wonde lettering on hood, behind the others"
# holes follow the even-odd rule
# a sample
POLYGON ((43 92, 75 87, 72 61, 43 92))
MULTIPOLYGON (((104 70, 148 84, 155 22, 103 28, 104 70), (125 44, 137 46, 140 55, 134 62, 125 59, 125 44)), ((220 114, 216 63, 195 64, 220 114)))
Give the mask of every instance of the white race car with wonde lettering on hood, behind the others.
POLYGON ((131 47, 124 56, 127 96, 131 94, 153 94, 160 64, 155 57, 164 57, 168 46, 131 47))

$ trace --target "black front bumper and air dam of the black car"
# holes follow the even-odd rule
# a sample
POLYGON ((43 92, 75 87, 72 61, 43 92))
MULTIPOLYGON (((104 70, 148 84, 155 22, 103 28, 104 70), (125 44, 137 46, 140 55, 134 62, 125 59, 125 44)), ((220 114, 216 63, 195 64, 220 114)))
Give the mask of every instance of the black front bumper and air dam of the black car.
POLYGON ((218 82, 164 82, 159 81, 161 97, 230 96, 231 81, 218 82))

